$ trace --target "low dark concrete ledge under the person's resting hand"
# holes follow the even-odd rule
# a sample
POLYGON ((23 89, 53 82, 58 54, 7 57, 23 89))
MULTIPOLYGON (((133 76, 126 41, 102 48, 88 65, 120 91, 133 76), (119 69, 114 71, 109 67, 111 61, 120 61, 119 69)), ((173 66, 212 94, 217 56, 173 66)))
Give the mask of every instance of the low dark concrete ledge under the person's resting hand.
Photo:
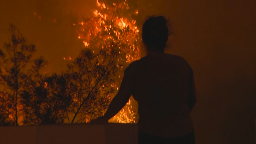
POLYGON ((137 144, 136 124, 1 126, 1 144, 137 144))

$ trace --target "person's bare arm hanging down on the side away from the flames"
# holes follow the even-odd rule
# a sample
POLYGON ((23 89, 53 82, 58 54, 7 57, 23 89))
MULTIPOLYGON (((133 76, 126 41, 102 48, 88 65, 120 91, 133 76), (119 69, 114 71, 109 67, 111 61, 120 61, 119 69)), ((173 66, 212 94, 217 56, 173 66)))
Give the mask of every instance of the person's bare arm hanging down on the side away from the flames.
POLYGON ((192 68, 190 68, 190 82, 189 82, 189 92, 188 92, 188 106, 190 111, 196 104, 196 86, 194 81, 194 73, 192 68))

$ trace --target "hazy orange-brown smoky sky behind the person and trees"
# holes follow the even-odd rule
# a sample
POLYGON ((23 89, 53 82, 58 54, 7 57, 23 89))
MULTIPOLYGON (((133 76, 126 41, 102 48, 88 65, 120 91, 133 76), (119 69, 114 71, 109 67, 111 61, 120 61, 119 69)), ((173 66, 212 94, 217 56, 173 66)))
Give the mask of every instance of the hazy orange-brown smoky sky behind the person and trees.
MULTIPOLYGON (((138 27, 148 15, 164 15, 176 34, 166 52, 184 57, 194 70, 196 143, 255 143, 256 2, 130 1, 138 3, 138 27)), ((95 8, 96 0, 1 0, 0 46, 13 23, 36 45, 35 57, 48 60, 49 74, 59 73, 66 68, 63 57, 82 49, 72 24, 95 8)))

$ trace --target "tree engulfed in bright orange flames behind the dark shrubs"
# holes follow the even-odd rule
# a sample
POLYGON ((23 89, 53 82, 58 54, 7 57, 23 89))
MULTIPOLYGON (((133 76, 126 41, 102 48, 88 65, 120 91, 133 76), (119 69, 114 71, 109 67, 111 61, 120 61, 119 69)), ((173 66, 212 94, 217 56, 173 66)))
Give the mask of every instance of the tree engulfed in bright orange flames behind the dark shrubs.
MULTIPOLYGON (((96 3, 98 10, 77 24, 78 38, 82 40, 86 48, 93 48, 95 52, 106 46, 107 48, 117 46, 119 50, 116 57, 118 70, 115 76, 116 82, 112 85, 118 90, 124 68, 140 58, 139 30, 136 20, 132 19, 138 11, 130 10, 126 2, 113 3, 110 6, 98 0, 96 3)), ((114 116, 111 122, 135 123, 138 115, 132 108, 134 102, 135 100, 131 97, 124 109, 114 116)))

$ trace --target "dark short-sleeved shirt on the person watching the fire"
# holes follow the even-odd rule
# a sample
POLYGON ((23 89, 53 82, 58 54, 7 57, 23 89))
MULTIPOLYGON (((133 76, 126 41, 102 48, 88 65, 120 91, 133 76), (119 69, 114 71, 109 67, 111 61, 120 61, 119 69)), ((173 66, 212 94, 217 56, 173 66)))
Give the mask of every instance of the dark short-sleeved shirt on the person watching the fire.
POLYGON ((193 71, 180 56, 154 53, 124 71, 138 101, 139 132, 175 138, 194 130, 189 116, 196 102, 193 71))

